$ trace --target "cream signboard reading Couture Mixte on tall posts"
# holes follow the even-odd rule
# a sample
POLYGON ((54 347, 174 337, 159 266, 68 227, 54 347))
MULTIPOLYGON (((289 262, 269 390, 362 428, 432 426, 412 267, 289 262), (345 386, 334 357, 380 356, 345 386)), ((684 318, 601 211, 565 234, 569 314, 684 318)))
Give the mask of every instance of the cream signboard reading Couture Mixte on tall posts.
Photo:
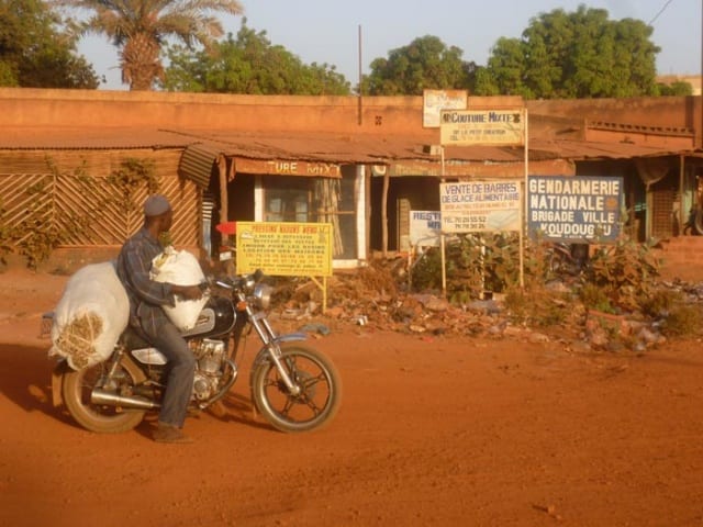
POLYGON ((444 110, 442 145, 523 145, 525 112, 515 110, 444 110))

